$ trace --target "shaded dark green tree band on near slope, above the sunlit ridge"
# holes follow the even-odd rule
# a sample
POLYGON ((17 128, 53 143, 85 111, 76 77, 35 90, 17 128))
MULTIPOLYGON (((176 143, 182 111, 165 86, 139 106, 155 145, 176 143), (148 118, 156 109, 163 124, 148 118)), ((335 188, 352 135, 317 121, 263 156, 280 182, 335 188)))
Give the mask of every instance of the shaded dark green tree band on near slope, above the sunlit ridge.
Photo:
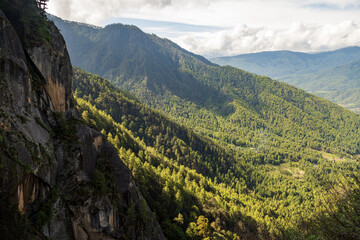
MULTIPOLYGON (((158 112, 140 104, 136 99, 128 98, 127 93, 115 89, 104 79, 78 68, 74 68, 74 79, 76 96, 90 99, 91 95, 91 103, 97 109, 111 114, 115 121, 131 130, 135 137, 142 139, 147 146, 155 147, 163 155, 177 159, 180 164, 192 165, 199 172, 214 176, 216 171, 227 171, 229 165, 235 161, 230 153, 215 143, 178 126, 158 112), (227 159, 227 162, 223 159, 227 159)), ((84 111, 82 115, 86 122, 91 121, 88 111, 84 111)))

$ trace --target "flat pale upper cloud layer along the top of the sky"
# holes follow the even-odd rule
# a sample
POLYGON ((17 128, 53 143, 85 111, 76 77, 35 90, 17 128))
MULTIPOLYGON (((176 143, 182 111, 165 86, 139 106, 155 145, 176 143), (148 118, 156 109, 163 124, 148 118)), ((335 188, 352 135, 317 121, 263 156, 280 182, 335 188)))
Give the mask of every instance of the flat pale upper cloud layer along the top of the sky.
POLYGON ((354 6, 360 6, 358 0, 51 0, 49 12, 97 25, 110 17, 133 17, 226 27, 236 24, 284 27, 292 21, 325 23, 357 19, 359 8, 354 6), (321 7, 325 5, 347 10, 321 7))

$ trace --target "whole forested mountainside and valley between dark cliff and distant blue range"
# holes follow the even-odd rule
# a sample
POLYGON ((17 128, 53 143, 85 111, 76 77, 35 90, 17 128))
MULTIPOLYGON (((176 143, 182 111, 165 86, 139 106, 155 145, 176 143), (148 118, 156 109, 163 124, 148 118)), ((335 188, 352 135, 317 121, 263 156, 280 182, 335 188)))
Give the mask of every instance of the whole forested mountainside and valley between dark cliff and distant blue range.
POLYGON ((169 239, 310 237, 329 186, 358 168, 360 116, 336 104, 134 26, 52 19, 73 64, 115 85, 75 68, 79 111, 169 239))

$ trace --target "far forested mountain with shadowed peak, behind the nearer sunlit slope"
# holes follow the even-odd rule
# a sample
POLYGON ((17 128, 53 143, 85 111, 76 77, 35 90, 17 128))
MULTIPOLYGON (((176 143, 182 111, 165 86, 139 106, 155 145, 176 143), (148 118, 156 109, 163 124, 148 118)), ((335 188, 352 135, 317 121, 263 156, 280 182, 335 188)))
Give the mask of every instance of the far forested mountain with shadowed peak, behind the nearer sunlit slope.
POLYGON ((349 135, 346 128, 357 132, 359 117, 330 102, 267 77, 211 64, 133 26, 96 28, 96 34, 87 37, 92 44, 82 51, 71 46, 82 41, 82 32, 95 28, 78 31, 75 26, 83 24, 53 20, 69 41, 73 64, 107 77, 149 106, 224 146, 259 148, 264 145, 261 136, 266 135, 267 148, 296 142, 304 149, 358 152, 358 136, 349 135), (98 62, 103 69, 87 61, 98 62), (127 67, 119 68, 123 64, 127 67))

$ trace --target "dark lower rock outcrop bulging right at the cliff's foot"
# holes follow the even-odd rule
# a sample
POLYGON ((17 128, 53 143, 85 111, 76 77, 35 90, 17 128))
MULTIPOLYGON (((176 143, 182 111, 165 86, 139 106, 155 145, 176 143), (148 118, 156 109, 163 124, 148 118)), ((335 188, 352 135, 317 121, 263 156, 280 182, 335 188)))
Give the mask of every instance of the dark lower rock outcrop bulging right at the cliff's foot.
POLYGON ((67 226, 75 239, 163 239, 156 219, 147 205, 142 205, 144 200, 115 148, 99 132, 81 124, 75 127, 73 137, 77 145, 65 143, 57 149, 58 161, 62 163, 58 191, 63 197, 56 199, 54 210, 58 214, 46 225, 47 236, 69 236, 64 232, 66 228, 59 227, 67 226), (63 214, 64 205, 68 207, 67 215, 63 214), (151 221, 130 219, 130 206, 139 214, 145 212, 151 221))

